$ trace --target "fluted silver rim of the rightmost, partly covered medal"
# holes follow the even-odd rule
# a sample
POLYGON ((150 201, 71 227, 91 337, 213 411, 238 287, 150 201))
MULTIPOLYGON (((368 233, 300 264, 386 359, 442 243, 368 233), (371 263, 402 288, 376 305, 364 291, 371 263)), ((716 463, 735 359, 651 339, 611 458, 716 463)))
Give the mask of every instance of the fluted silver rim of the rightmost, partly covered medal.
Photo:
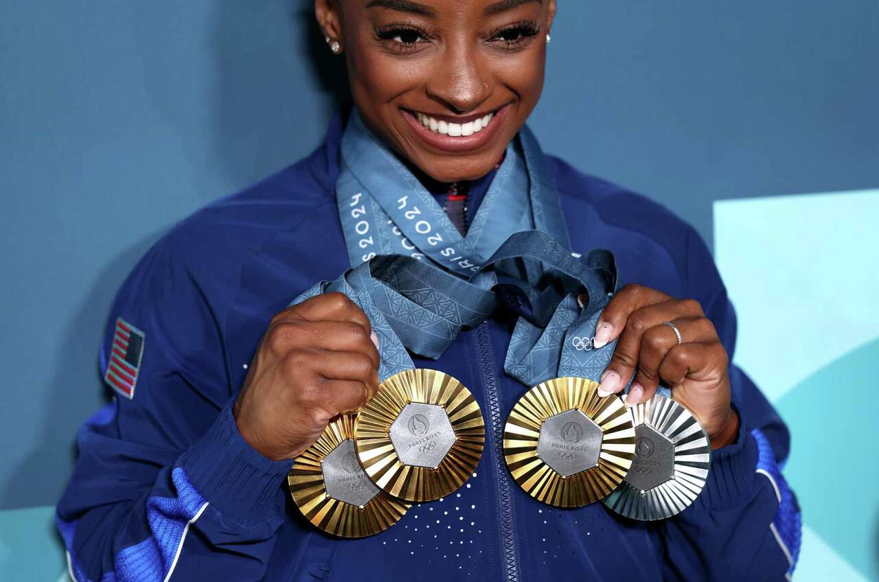
POLYGON ((665 520, 692 505, 705 488, 711 468, 708 433, 686 406, 659 394, 636 404, 629 413, 635 426, 650 426, 672 441, 674 473, 647 491, 623 480, 604 505, 632 520, 665 520))

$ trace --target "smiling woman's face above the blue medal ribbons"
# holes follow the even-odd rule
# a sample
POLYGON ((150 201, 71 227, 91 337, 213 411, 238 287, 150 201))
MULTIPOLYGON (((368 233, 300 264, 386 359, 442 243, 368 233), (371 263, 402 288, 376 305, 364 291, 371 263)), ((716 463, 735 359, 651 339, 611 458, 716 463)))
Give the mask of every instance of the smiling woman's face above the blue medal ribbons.
POLYGON ((316 0, 345 51, 354 102, 403 158, 442 182, 504 156, 543 87, 555 0, 316 0))

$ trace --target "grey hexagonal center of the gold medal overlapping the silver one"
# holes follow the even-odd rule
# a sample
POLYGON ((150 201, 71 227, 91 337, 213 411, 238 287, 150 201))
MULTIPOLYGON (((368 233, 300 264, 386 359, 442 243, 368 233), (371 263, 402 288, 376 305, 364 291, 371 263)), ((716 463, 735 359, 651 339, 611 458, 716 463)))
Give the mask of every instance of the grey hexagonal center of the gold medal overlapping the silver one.
POLYGON ((565 411, 543 421, 537 456, 562 477, 570 477, 599 464, 602 436, 582 411, 565 411))

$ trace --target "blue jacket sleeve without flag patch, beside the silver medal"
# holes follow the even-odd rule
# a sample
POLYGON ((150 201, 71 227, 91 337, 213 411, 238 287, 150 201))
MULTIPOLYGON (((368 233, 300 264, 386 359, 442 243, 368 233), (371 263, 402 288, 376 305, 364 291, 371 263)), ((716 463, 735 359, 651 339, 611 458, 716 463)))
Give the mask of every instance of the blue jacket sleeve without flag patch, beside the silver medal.
MULTIPOLYGON (((732 361, 736 314, 701 237, 689 232, 685 291, 701 302, 732 361)), ((772 404, 740 368, 730 365, 737 441, 714 451, 708 483, 694 504, 660 527, 665 578, 781 580, 790 578, 800 547, 800 509, 781 477, 789 434, 772 404)))

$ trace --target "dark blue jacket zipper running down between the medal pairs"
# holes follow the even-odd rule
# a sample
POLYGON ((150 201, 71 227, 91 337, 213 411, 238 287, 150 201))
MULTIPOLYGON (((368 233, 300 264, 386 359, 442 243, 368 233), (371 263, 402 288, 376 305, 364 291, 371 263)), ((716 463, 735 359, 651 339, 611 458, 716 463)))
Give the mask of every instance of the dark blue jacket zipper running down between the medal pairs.
POLYGON ((505 582, 519 582, 519 546, 516 544, 515 515, 512 512, 510 480, 504 473, 504 419, 501 418, 495 354, 491 347, 489 323, 476 328, 479 363, 483 368, 485 394, 489 404, 492 452, 495 455, 495 482, 498 484, 498 515, 500 515, 500 546, 504 561, 505 582))

